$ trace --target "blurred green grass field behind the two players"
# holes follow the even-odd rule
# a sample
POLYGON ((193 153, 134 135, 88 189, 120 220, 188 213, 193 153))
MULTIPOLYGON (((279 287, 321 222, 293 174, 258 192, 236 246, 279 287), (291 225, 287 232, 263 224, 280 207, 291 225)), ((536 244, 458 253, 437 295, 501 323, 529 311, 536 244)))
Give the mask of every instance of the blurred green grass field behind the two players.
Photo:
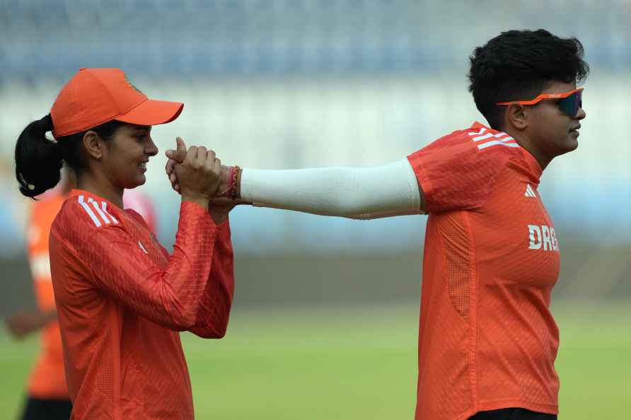
MULTIPOLYGON (((560 419, 620 419, 631 303, 557 305, 560 419)), ((222 340, 183 335, 197 419, 412 419, 418 308, 239 310, 222 340)), ((14 418, 37 339, 0 334, 0 412, 14 418)))

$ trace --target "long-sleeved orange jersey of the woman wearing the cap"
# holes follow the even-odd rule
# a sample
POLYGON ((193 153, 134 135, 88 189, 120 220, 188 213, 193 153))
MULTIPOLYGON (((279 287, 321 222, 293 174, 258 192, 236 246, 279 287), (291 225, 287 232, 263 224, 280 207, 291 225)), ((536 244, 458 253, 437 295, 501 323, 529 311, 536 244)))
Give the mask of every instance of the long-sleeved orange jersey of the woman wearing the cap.
POLYGON ((169 256, 135 211, 75 190, 52 225, 50 264, 71 418, 193 419, 178 331, 226 331, 228 223, 183 202, 169 256))

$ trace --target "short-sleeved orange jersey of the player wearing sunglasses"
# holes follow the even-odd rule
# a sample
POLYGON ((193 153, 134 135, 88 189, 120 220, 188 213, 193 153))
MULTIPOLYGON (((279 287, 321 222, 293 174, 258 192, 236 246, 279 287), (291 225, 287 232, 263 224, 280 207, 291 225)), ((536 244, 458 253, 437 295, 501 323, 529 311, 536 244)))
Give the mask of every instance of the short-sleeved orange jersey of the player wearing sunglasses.
POLYGON ((537 193, 540 165, 479 123, 408 159, 429 211, 416 419, 506 407, 556 414, 549 307, 560 254, 537 193))

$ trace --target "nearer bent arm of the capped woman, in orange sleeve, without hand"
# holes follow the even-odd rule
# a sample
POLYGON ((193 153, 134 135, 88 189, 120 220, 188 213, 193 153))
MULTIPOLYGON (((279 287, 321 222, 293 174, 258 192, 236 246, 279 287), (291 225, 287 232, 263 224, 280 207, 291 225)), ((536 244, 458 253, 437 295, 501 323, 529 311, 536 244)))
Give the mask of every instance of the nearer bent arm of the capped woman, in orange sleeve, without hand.
POLYGON ((163 327, 185 330, 197 319, 215 237, 216 226, 207 211, 183 202, 166 267, 156 265, 134 240, 113 227, 84 244, 83 253, 94 261, 98 288, 163 327))

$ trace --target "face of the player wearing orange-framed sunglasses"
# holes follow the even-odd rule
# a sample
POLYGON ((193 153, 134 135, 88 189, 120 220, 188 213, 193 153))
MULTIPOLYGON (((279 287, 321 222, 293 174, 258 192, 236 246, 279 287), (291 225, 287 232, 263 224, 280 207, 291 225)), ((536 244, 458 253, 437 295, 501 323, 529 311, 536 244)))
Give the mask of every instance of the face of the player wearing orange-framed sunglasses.
MULTIPOLYGON (((564 93, 575 88, 574 83, 552 81, 541 93, 564 93)), ((562 112, 559 102, 558 99, 542 100, 523 109, 528 116, 528 125, 523 134, 527 136, 533 154, 540 163, 549 163, 552 158, 573 151, 579 146, 580 121, 586 117, 585 111, 581 107, 577 115, 569 117, 562 112)))

